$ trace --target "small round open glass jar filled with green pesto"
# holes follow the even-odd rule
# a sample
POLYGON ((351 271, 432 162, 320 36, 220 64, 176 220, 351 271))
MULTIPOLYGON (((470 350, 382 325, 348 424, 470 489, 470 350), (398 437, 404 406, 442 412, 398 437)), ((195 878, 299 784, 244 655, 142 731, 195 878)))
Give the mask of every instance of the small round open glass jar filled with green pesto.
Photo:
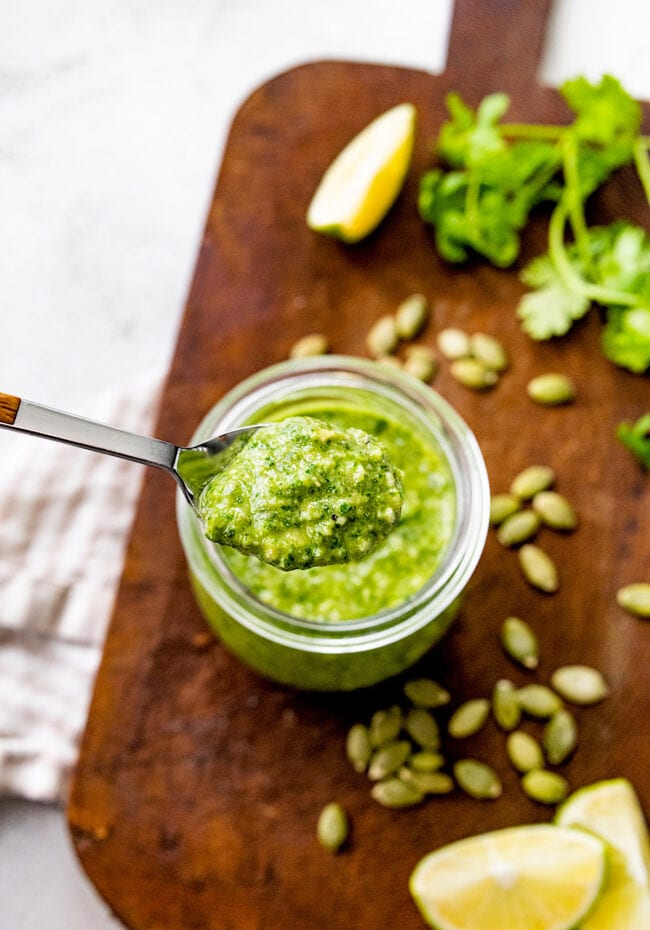
MULTIPOLYGON (((253 560, 251 577, 259 572, 272 573, 257 583, 256 593, 246 569, 252 557, 206 539, 200 521, 180 491, 177 499, 178 525, 192 588, 219 639, 261 674, 283 684, 318 691, 347 691, 376 684, 411 666, 440 639, 458 610, 461 594, 481 555, 489 520, 487 473, 472 432, 435 391, 381 363, 321 356, 274 365, 224 396, 203 419, 192 442, 199 443, 246 423, 297 414, 331 419, 339 415, 337 411, 344 415, 344 425, 358 425, 372 432, 368 423, 383 424, 387 431, 409 437, 398 449, 407 469, 405 509, 400 524, 387 537, 394 537, 388 557, 383 553, 382 558, 380 552, 373 561, 371 553, 360 563, 350 563, 354 566, 351 569, 326 566, 288 573, 262 567, 253 560), (429 526, 434 522, 431 519, 426 522, 431 530, 427 552, 427 558, 433 559, 430 571, 424 556, 413 548, 424 535, 419 531, 413 534, 409 523, 417 519, 418 508, 412 508, 410 513, 411 505, 407 506, 408 470, 417 465, 418 448, 438 456, 440 462, 437 470, 424 469, 424 475, 414 472, 420 484, 428 482, 421 500, 433 500, 439 508, 436 512, 447 514, 437 527, 429 526), (408 531, 410 543, 405 541, 408 536, 401 539, 395 535, 408 531), (411 552, 414 554, 409 562, 411 552), (428 573, 418 577, 422 566, 428 573), (345 574, 348 570, 349 577, 345 574), (315 572, 321 575, 310 576, 315 572), (324 577, 323 572, 331 574, 324 577), (292 582, 287 575, 303 577, 294 577, 292 582), (286 584, 300 585, 301 593, 293 606, 286 592, 274 603, 274 585, 269 578, 276 577, 278 590, 286 584), (316 578, 320 579, 318 583, 316 578), (409 583, 416 586, 415 590, 408 590, 409 583), (384 591, 388 592, 385 602, 384 591), (364 609, 368 597, 371 607, 364 609), (325 603, 330 607, 324 607, 325 603), (354 608, 348 606, 353 603, 354 608)), ((388 455, 393 458, 390 448, 388 455)))

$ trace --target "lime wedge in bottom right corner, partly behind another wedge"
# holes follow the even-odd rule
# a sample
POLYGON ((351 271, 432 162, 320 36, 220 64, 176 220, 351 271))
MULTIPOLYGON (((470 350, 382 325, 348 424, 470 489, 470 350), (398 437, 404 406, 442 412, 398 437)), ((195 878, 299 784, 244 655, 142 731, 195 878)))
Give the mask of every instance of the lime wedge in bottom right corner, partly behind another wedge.
POLYGON ((564 802, 556 821, 589 830, 611 846, 602 897, 581 930, 648 930, 650 841, 629 781, 614 778, 580 788, 564 802))

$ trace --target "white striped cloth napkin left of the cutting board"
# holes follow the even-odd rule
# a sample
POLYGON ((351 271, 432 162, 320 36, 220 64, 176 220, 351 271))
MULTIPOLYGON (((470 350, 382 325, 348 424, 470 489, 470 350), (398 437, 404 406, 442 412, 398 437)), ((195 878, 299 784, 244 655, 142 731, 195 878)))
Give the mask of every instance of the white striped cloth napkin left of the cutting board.
MULTIPOLYGON (((160 384, 89 415, 150 433, 160 384)), ((144 470, 0 430, 0 793, 65 801, 144 470)))

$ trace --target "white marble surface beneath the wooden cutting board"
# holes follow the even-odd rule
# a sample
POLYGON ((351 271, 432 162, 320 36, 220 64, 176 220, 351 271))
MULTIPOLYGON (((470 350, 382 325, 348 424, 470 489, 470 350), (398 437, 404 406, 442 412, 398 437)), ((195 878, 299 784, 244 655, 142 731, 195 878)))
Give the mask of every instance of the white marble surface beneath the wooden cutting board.
MULTIPOLYGON (((116 380, 163 372, 242 99, 317 58, 441 70, 449 10, 0 0, 0 388, 84 413, 116 380)), ((649 98, 648 16, 647 0, 560 0, 541 77, 611 71, 649 98)), ((0 803, 0 926, 117 926, 56 809, 0 803)))

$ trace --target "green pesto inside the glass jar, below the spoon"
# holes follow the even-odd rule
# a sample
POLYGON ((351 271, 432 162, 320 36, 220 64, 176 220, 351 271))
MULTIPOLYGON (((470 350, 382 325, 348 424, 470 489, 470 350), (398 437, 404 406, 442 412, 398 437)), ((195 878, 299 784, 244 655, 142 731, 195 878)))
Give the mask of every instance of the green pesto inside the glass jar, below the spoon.
POLYGON ((262 601, 295 617, 338 621, 370 616, 414 595, 439 567, 455 521, 449 463, 408 422, 335 401, 306 401, 300 413, 376 437, 402 474, 402 516, 370 554, 342 565, 283 572, 224 548, 231 570, 262 601))

